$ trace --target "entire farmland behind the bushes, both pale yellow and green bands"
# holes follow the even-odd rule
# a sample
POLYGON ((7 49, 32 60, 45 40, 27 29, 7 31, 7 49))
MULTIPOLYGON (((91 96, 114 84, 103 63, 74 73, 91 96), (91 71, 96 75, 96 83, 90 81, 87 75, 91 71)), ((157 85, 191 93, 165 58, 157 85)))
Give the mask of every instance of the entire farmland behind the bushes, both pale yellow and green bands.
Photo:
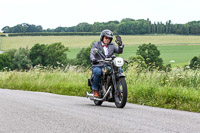
MULTIPOLYGON (((125 44, 125 59, 134 56, 138 45, 152 43, 158 46, 161 57, 165 64, 174 60, 173 66, 183 66, 193 56, 200 55, 200 36, 180 35, 143 35, 143 36, 122 36, 125 44)), ((19 47, 31 48, 36 43, 51 44, 62 42, 69 47, 69 58, 75 58, 81 48, 88 47, 92 41, 99 40, 99 36, 23 36, 23 37, 1 37, 0 50, 18 49, 19 47)))

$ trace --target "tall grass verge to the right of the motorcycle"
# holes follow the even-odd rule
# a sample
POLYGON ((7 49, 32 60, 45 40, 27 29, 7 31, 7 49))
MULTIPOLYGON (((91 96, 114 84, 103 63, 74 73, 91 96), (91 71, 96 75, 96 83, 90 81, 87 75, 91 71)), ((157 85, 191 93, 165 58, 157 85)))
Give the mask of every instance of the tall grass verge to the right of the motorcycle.
POLYGON ((129 102, 200 112, 199 71, 141 72, 131 67, 126 77, 129 102))

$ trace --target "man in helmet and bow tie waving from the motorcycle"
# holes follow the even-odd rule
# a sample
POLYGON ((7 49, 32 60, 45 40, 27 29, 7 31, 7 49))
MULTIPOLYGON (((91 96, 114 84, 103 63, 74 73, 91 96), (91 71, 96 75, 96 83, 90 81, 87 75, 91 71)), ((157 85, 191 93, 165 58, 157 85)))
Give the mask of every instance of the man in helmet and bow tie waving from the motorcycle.
POLYGON ((93 82, 92 82, 92 90, 94 97, 99 97, 99 83, 102 76, 102 67, 104 67, 103 62, 98 62, 102 58, 99 55, 95 54, 93 50, 96 48, 99 51, 99 54, 103 58, 109 58, 114 53, 121 54, 123 53, 124 45, 122 44, 122 40, 120 36, 116 36, 115 42, 118 44, 118 48, 112 42, 113 40, 113 33, 112 31, 106 29, 103 30, 100 34, 100 41, 94 42, 93 46, 90 50, 90 60, 92 62, 92 73, 93 73, 93 82))

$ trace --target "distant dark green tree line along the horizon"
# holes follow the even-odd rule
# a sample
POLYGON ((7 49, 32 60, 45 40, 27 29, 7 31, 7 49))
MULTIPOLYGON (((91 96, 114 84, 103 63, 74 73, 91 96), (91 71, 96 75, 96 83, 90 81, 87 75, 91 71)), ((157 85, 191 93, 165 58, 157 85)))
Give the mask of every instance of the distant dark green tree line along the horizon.
POLYGON ((181 35, 199 35, 200 21, 191 21, 185 24, 173 24, 171 20, 166 23, 151 22, 149 19, 131 19, 125 18, 121 21, 86 22, 79 23, 72 27, 57 27, 55 29, 43 29, 40 25, 22 23, 13 27, 5 26, 3 33, 27 33, 27 32, 101 32, 104 29, 110 29, 115 34, 137 35, 137 34, 181 34, 181 35))

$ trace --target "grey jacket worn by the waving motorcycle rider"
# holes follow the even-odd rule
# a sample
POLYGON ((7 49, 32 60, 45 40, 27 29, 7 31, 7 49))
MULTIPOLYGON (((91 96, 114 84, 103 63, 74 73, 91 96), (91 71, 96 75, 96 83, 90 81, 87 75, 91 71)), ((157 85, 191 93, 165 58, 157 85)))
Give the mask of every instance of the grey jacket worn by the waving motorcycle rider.
MULTIPOLYGON (((121 54, 123 53, 123 48, 124 48, 124 45, 122 45, 121 47, 116 47, 115 44, 113 42, 111 42, 110 44, 108 44, 108 55, 106 56, 105 53, 104 53, 104 49, 102 47, 102 43, 101 41, 97 41, 97 42, 94 42, 93 43, 93 46, 90 50, 90 60, 92 61, 93 59, 96 59, 96 60, 101 60, 102 58, 99 57, 98 54, 95 54, 93 53, 93 50, 97 48, 99 50, 99 53, 101 54, 101 56, 103 58, 109 58, 111 57, 114 53, 117 53, 117 54, 121 54)), ((98 64, 93 64, 92 66, 103 66, 104 63, 103 62, 100 62, 98 64)))

